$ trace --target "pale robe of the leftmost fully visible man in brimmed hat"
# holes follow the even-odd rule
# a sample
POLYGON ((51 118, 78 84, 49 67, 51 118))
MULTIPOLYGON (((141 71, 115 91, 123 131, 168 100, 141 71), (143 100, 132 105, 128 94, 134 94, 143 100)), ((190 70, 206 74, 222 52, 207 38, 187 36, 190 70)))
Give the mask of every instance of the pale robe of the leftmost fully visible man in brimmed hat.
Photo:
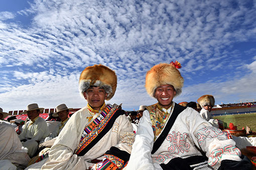
POLYGON ((44 140, 48 135, 49 129, 46 121, 38 116, 34 120, 26 122, 19 138, 20 140, 27 139, 27 141, 22 142, 22 144, 29 149, 29 155, 33 156, 38 148, 38 142, 36 140, 44 140))

